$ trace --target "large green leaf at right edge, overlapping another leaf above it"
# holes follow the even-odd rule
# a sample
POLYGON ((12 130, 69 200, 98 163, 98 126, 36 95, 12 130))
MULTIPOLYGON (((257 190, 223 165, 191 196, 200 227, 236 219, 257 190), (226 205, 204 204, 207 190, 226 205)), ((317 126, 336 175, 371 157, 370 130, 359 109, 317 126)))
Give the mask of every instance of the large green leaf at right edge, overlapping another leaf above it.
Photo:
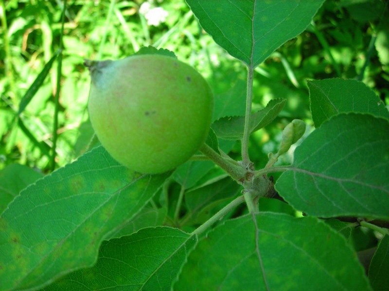
POLYGON ((309 215, 389 219, 388 132, 383 118, 336 115, 296 148, 277 191, 309 215))

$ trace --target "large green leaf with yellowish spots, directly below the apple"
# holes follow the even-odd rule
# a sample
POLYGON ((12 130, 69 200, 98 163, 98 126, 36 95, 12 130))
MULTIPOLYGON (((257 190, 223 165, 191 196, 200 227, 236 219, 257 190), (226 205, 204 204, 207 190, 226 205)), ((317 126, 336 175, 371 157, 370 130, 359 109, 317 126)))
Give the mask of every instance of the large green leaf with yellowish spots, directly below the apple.
POLYGON ((168 176, 134 173, 98 146, 27 187, 0 217, 0 290, 43 287, 91 266, 103 239, 168 176))

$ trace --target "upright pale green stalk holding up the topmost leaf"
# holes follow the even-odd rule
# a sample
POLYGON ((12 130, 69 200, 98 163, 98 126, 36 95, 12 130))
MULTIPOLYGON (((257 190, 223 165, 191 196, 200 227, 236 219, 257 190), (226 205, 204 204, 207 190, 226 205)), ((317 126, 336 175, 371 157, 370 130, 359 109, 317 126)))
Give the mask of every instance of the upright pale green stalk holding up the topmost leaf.
POLYGON ((252 64, 250 64, 248 66, 248 74, 247 74, 245 129, 242 138, 242 160, 245 165, 248 165, 250 163, 250 157, 248 156, 248 140, 251 131, 250 120, 251 120, 253 75, 254 75, 254 68, 252 64))

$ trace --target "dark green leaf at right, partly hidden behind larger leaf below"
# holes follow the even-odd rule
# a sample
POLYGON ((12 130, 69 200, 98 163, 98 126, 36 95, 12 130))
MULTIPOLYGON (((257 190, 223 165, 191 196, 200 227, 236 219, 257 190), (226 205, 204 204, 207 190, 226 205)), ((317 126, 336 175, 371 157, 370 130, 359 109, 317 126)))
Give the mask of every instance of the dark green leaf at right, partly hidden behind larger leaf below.
POLYGON ((389 112, 363 82, 344 79, 308 81, 312 119, 318 128, 339 113, 371 113, 389 120, 389 112))

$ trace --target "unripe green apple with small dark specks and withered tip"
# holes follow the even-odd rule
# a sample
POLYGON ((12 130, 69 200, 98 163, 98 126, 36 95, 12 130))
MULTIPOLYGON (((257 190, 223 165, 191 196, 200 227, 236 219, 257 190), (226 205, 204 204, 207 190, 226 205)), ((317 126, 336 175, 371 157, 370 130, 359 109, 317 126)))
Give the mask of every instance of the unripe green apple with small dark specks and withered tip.
POLYGON ((163 55, 86 61, 89 118, 107 152, 124 166, 159 174, 186 162, 205 142, 212 90, 190 65, 163 55))

